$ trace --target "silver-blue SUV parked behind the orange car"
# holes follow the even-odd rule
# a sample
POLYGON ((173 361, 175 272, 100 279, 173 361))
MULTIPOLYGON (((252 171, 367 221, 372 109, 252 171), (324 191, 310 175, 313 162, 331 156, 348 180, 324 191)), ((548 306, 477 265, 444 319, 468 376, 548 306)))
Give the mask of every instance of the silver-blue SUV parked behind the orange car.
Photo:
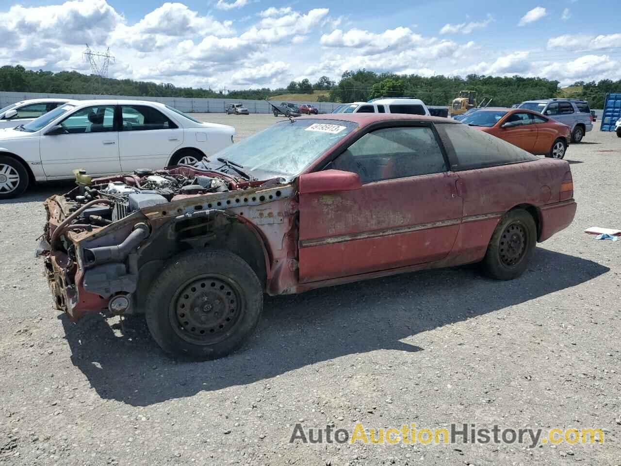
POLYGON ((571 142, 580 142, 593 129, 589 103, 578 99, 540 99, 522 102, 518 108, 534 110, 571 128, 571 142))

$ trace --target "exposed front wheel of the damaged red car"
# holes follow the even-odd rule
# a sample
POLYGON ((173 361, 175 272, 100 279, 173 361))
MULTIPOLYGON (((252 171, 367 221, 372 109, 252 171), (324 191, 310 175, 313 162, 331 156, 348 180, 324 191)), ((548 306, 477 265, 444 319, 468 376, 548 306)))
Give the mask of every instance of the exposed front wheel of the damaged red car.
POLYGON ((235 254, 193 250, 171 259, 145 303, 147 326, 168 354, 194 360, 231 354, 263 311, 255 272, 235 254))

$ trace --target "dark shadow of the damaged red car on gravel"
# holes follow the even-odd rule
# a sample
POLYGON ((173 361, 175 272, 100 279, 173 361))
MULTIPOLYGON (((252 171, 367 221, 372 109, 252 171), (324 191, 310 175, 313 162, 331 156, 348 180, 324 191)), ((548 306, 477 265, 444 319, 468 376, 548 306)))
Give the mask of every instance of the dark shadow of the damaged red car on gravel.
MULTIPOLYGON (((159 349, 143 318, 119 323, 101 316, 72 324, 60 316, 71 360, 99 396, 134 406, 245 385, 344 355, 423 352, 408 337, 579 285, 610 269, 580 257, 537 249, 527 273, 513 281, 483 278, 477 267, 407 273, 266 297, 258 331, 235 354, 209 362, 177 362, 159 349)), ((545 324, 545 322, 542 322, 545 324)))

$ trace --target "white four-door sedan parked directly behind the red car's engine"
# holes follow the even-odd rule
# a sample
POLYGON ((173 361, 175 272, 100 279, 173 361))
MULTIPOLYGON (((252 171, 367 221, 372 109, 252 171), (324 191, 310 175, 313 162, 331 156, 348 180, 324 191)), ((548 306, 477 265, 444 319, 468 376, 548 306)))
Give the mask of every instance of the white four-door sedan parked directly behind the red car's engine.
POLYGON ((231 126, 202 123, 156 102, 69 102, 15 128, 0 129, 0 199, 33 181, 193 164, 233 144, 231 126))

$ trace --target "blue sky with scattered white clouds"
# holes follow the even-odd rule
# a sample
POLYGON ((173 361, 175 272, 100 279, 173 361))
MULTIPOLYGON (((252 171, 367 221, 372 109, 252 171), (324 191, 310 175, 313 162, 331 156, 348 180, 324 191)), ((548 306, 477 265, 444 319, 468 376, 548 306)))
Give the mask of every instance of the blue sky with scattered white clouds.
POLYGON ((345 70, 621 79, 618 14, 604 1, 3 0, 0 65, 215 89, 338 80, 345 70), (616 17, 615 17, 616 15, 616 17))

